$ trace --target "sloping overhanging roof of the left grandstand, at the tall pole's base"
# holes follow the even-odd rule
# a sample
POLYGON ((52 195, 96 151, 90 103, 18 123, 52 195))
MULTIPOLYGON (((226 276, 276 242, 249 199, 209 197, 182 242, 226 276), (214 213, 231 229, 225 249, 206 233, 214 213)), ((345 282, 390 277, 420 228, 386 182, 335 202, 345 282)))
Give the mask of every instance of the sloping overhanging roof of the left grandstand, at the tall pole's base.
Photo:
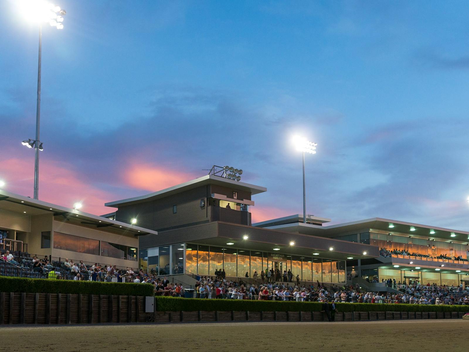
POLYGON ((48 203, 38 199, 32 199, 4 190, 0 190, 0 209, 30 216, 52 213, 55 217, 61 217, 64 219, 64 221, 67 222, 72 222, 82 226, 86 225, 88 227, 97 228, 102 231, 113 232, 122 235, 158 235, 157 231, 144 229, 142 227, 131 225, 125 222, 110 220, 102 216, 84 213, 79 210, 58 206, 56 204, 48 203))

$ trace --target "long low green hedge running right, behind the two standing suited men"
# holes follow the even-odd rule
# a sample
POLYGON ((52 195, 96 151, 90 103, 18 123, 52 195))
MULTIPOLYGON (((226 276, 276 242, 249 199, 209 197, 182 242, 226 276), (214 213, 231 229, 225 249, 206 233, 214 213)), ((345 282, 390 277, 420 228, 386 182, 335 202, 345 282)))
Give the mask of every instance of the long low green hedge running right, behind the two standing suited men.
MULTIPOLYGON (((258 301, 249 299, 206 299, 156 297, 159 312, 178 311, 249 311, 249 312, 320 312, 320 302, 258 301)), ((336 303, 337 312, 469 312, 469 306, 336 303)))

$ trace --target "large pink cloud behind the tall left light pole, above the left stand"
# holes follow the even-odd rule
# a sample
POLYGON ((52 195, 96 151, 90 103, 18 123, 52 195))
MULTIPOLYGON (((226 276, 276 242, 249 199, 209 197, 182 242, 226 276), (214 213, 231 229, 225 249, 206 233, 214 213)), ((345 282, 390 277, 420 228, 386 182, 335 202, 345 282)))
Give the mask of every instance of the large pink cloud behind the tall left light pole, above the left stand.
MULTIPOLYGON (((0 178, 7 183, 6 191, 32 198, 34 193, 34 158, 2 160, 0 173, 0 178)), ((105 202, 113 198, 113 194, 94 187, 70 164, 47 160, 40 163, 40 200, 63 207, 73 207, 75 202, 81 201, 83 203, 82 211, 101 215, 113 211, 113 208, 104 206, 105 202)))

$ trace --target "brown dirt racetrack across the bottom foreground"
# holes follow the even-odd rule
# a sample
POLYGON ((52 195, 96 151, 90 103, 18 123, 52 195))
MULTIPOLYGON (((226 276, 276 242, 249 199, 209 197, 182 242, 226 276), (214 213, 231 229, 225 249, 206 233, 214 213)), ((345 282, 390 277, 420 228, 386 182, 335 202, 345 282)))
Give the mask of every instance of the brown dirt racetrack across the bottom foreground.
POLYGON ((469 321, 0 327, 0 351, 465 351, 469 321))

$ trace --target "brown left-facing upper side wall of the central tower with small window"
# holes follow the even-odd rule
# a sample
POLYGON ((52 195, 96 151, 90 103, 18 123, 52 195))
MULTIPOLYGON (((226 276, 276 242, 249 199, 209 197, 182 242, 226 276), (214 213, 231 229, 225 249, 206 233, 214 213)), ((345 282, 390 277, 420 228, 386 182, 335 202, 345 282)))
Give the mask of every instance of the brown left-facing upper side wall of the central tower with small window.
POLYGON ((137 218, 137 225, 150 230, 167 229, 178 225, 202 222, 209 219, 210 207, 200 207, 200 200, 207 197, 208 186, 197 187, 162 199, 119 207, 116 220, 130 223, 137 218), (173 206, 177 213, 173 214, 173 206))

